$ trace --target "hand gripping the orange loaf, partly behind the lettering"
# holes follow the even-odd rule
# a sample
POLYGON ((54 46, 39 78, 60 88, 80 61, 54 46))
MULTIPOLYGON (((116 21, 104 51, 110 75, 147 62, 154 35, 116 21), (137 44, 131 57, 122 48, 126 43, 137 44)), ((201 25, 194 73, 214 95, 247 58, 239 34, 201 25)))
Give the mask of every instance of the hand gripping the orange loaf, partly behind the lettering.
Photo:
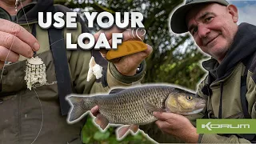
MULTIPOLYGON (((142 40, 140 38, 138 38, 137 36, 133 36, 132 34, 132 30, 122 30, 122 29, 118 29, 117 26, 113 26, 110 30, 100 30, 98 31, 98 33, 94 34, 94 38, 95 40, 98 40, 98 37, 101 33, 106 34, 106 38, 108 39, 110 46, 112 44, 112 33, 122 33, 123 34, 123 38, 122 38, 122 42, 125 41, 129 41, 129 40, 138 40, 138 41, 142 41, 144 36, 142 35, 143 32, 138 30, 138 36, 140 38, 142 38, 142 40)), ((106 53, 108 50, 100 50, 102 57, 106 58, 106 53)), ((152 52, 152 47, 147 45, 147 50, 142 51, 142 52, 138 52, 136 54, 130 54, 127 56, 124 56, 122 58, 115 58, 110 62, 114 63, 114 66, 116 66, 116 68, 118 69, 118 71, 126 76, 133 76, 134 74, 136 74, 136 70, 139 66, 139 64, 147 57, 151 54, 152 52)))

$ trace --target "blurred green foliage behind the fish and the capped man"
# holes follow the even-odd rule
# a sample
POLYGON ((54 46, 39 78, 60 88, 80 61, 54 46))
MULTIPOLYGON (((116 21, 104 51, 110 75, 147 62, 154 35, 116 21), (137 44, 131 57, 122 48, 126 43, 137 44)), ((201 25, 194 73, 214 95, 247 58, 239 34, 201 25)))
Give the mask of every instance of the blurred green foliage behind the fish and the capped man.
MULTIPOLYGON (((54 0, 82 14, 84 11, 114 12, 138 11, 144 16, 146 29, 144 42, 153 47, 153 53, 146 58, 146 76, 142 82, 168 82, 196 90, 197 83, 205 72, 200 60, 206 58, 194 45, 189 34, 170 32, 170 14, 182 0, 54 0)), ((98 28, 95 26, 95 30, 98 28)), ((85 143, 152 143, 142 133, 127 135, 117 141, 114 128, 102 133, 89 118, 83 128, 85 143)))

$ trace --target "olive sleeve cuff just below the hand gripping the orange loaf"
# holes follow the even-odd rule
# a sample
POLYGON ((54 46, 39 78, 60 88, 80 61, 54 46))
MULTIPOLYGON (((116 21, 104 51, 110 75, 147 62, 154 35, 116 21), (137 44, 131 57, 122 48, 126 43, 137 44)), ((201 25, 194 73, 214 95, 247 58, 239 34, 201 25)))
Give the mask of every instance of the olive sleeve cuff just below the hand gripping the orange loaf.
POLYGON ((106 72, 106 82, 108 86, 129 86, 134 82, 140 82, 146 70, 145 60, 141 63, 141 66, 142 70, 140 70, 137 74, 134 76, 126 76, 119 73, 114 64, 110 62, 106 72))

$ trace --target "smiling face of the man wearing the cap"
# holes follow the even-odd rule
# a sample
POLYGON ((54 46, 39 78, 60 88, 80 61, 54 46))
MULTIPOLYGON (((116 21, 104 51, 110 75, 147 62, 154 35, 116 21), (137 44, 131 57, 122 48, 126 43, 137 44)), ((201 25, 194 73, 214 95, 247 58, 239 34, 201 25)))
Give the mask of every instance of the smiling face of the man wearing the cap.
POLYGON ((188 30, 201 50, 220 63, 238 30, 238 10, 217 3, 195 7, 186 15, 188 30))

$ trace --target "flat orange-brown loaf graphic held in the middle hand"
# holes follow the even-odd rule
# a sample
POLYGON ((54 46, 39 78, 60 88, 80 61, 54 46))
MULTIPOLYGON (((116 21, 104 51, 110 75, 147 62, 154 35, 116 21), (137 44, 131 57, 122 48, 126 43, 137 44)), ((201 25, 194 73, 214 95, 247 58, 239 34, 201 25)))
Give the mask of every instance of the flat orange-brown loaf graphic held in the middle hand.
POLYGON ((140 51, 146 50, 147 46, 144 42, 141 41, 126 41, 122 42, 121 45, 118 46, 117 50, 109 50, 106 53, 106 59, 114 59, 114 58, 120 58, 126 55, 138 53, 140 51))

